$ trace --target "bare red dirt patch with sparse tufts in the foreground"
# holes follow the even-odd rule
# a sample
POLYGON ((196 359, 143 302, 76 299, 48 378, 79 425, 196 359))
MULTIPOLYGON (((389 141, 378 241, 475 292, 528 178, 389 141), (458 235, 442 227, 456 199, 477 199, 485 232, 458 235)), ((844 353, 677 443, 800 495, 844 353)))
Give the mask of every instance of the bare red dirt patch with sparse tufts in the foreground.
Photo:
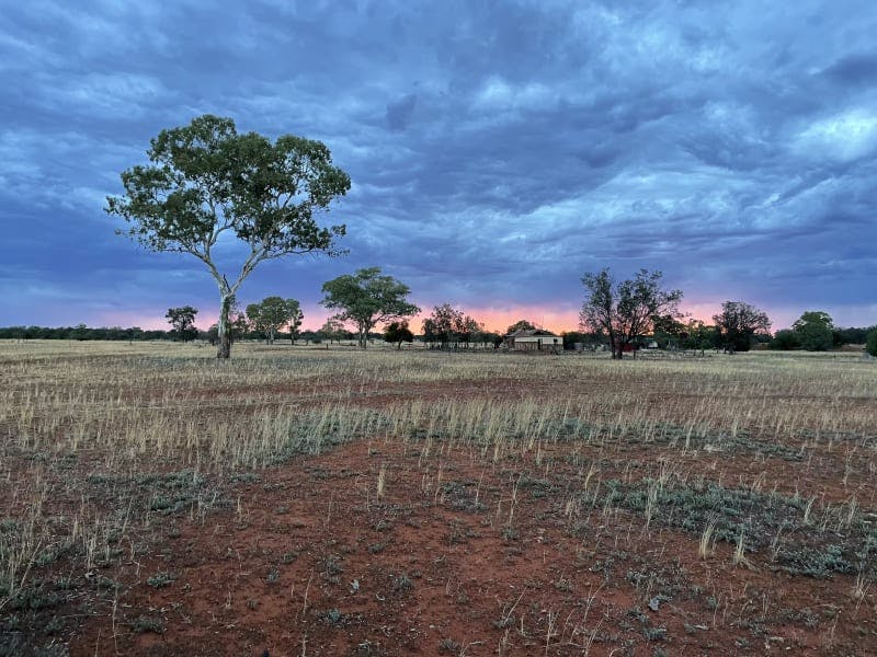
POLYGON ((624 510, 576 518, 565 492, 584 476, 559 460, 421 447, 350 443, 237 484, 203 522, 166 519, 107 573, 124 587, 71 655, 877 654, 874 595, 848 576, 734 566, 727 544, 702 560, 696 537, 624 510), (522 473, 565 488, 515 489, 522 473))

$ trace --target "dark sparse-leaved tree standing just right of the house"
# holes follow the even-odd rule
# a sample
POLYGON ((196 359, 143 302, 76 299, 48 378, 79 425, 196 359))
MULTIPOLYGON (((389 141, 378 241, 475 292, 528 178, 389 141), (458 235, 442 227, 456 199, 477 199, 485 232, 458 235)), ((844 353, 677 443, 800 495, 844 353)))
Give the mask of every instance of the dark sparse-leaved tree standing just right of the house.
POLYGON ((652 331, 656 318, 679 316, 681 290, 661 288, 662 274, 640 269, 634 278, 616 283, 608 269, 585 274, 588 296, 579 313, 583 331, 608 336, 612 357, 624 357, 624 348, 652 331))

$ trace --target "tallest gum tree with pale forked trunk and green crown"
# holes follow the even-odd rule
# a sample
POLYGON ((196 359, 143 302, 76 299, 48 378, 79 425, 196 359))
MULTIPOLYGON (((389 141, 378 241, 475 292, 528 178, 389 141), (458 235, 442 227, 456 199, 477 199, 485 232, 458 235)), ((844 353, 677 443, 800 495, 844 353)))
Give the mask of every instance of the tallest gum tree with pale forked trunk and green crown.
POLYGON ((229 311, 259 263, 305 253, 339 255, 343 224, 322 227, 317 216, 350 189, 320 141, 283 135, 272 142, 238 134, 235 122, 204 115, 162 130, 147 151, 150 164, 122 173, 125 193, 105 210, 128 222, 126 232, 148 251, 187 253, 219 288, 217 358, 231 355, 229 311), (215 247, 226 235, 246 251, 227 275, 215 247))

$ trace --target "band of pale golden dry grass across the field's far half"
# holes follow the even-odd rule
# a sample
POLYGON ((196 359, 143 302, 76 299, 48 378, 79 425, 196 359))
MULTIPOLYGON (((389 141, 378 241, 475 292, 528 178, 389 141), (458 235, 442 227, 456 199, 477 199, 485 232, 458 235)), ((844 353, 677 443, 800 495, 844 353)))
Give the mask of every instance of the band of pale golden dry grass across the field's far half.
POLYGON ((558 418, 646 440, 664 425, 776 440, 867 439, 877 427, 875 367, 853 355, 615 362, 239 345, 217 362, 201 346, 46 341, 0 344, 0 371, 3 449, 93 450, 107 466, 146 454, 264 465, 291 436, 316 439, 308 431, 331 422, 352 434, 363 422, 443 423, 481 440, 510 429, 529 439, 558 418))

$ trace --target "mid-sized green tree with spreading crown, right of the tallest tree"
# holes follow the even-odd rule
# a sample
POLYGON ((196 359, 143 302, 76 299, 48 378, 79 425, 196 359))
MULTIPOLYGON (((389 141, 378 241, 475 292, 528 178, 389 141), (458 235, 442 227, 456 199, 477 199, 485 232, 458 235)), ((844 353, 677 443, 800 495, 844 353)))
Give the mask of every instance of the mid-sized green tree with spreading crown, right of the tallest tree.
POLYGON ((339 310, 334 318, 356 326, 357 342, 363 349, 368 333, 377 324, 410 318, 420 308, 407 300, 409 287, 392 276, 381 276, 379 267, 360 269, 323 284, 326 298, 320 301, 330 310, 339 310))

